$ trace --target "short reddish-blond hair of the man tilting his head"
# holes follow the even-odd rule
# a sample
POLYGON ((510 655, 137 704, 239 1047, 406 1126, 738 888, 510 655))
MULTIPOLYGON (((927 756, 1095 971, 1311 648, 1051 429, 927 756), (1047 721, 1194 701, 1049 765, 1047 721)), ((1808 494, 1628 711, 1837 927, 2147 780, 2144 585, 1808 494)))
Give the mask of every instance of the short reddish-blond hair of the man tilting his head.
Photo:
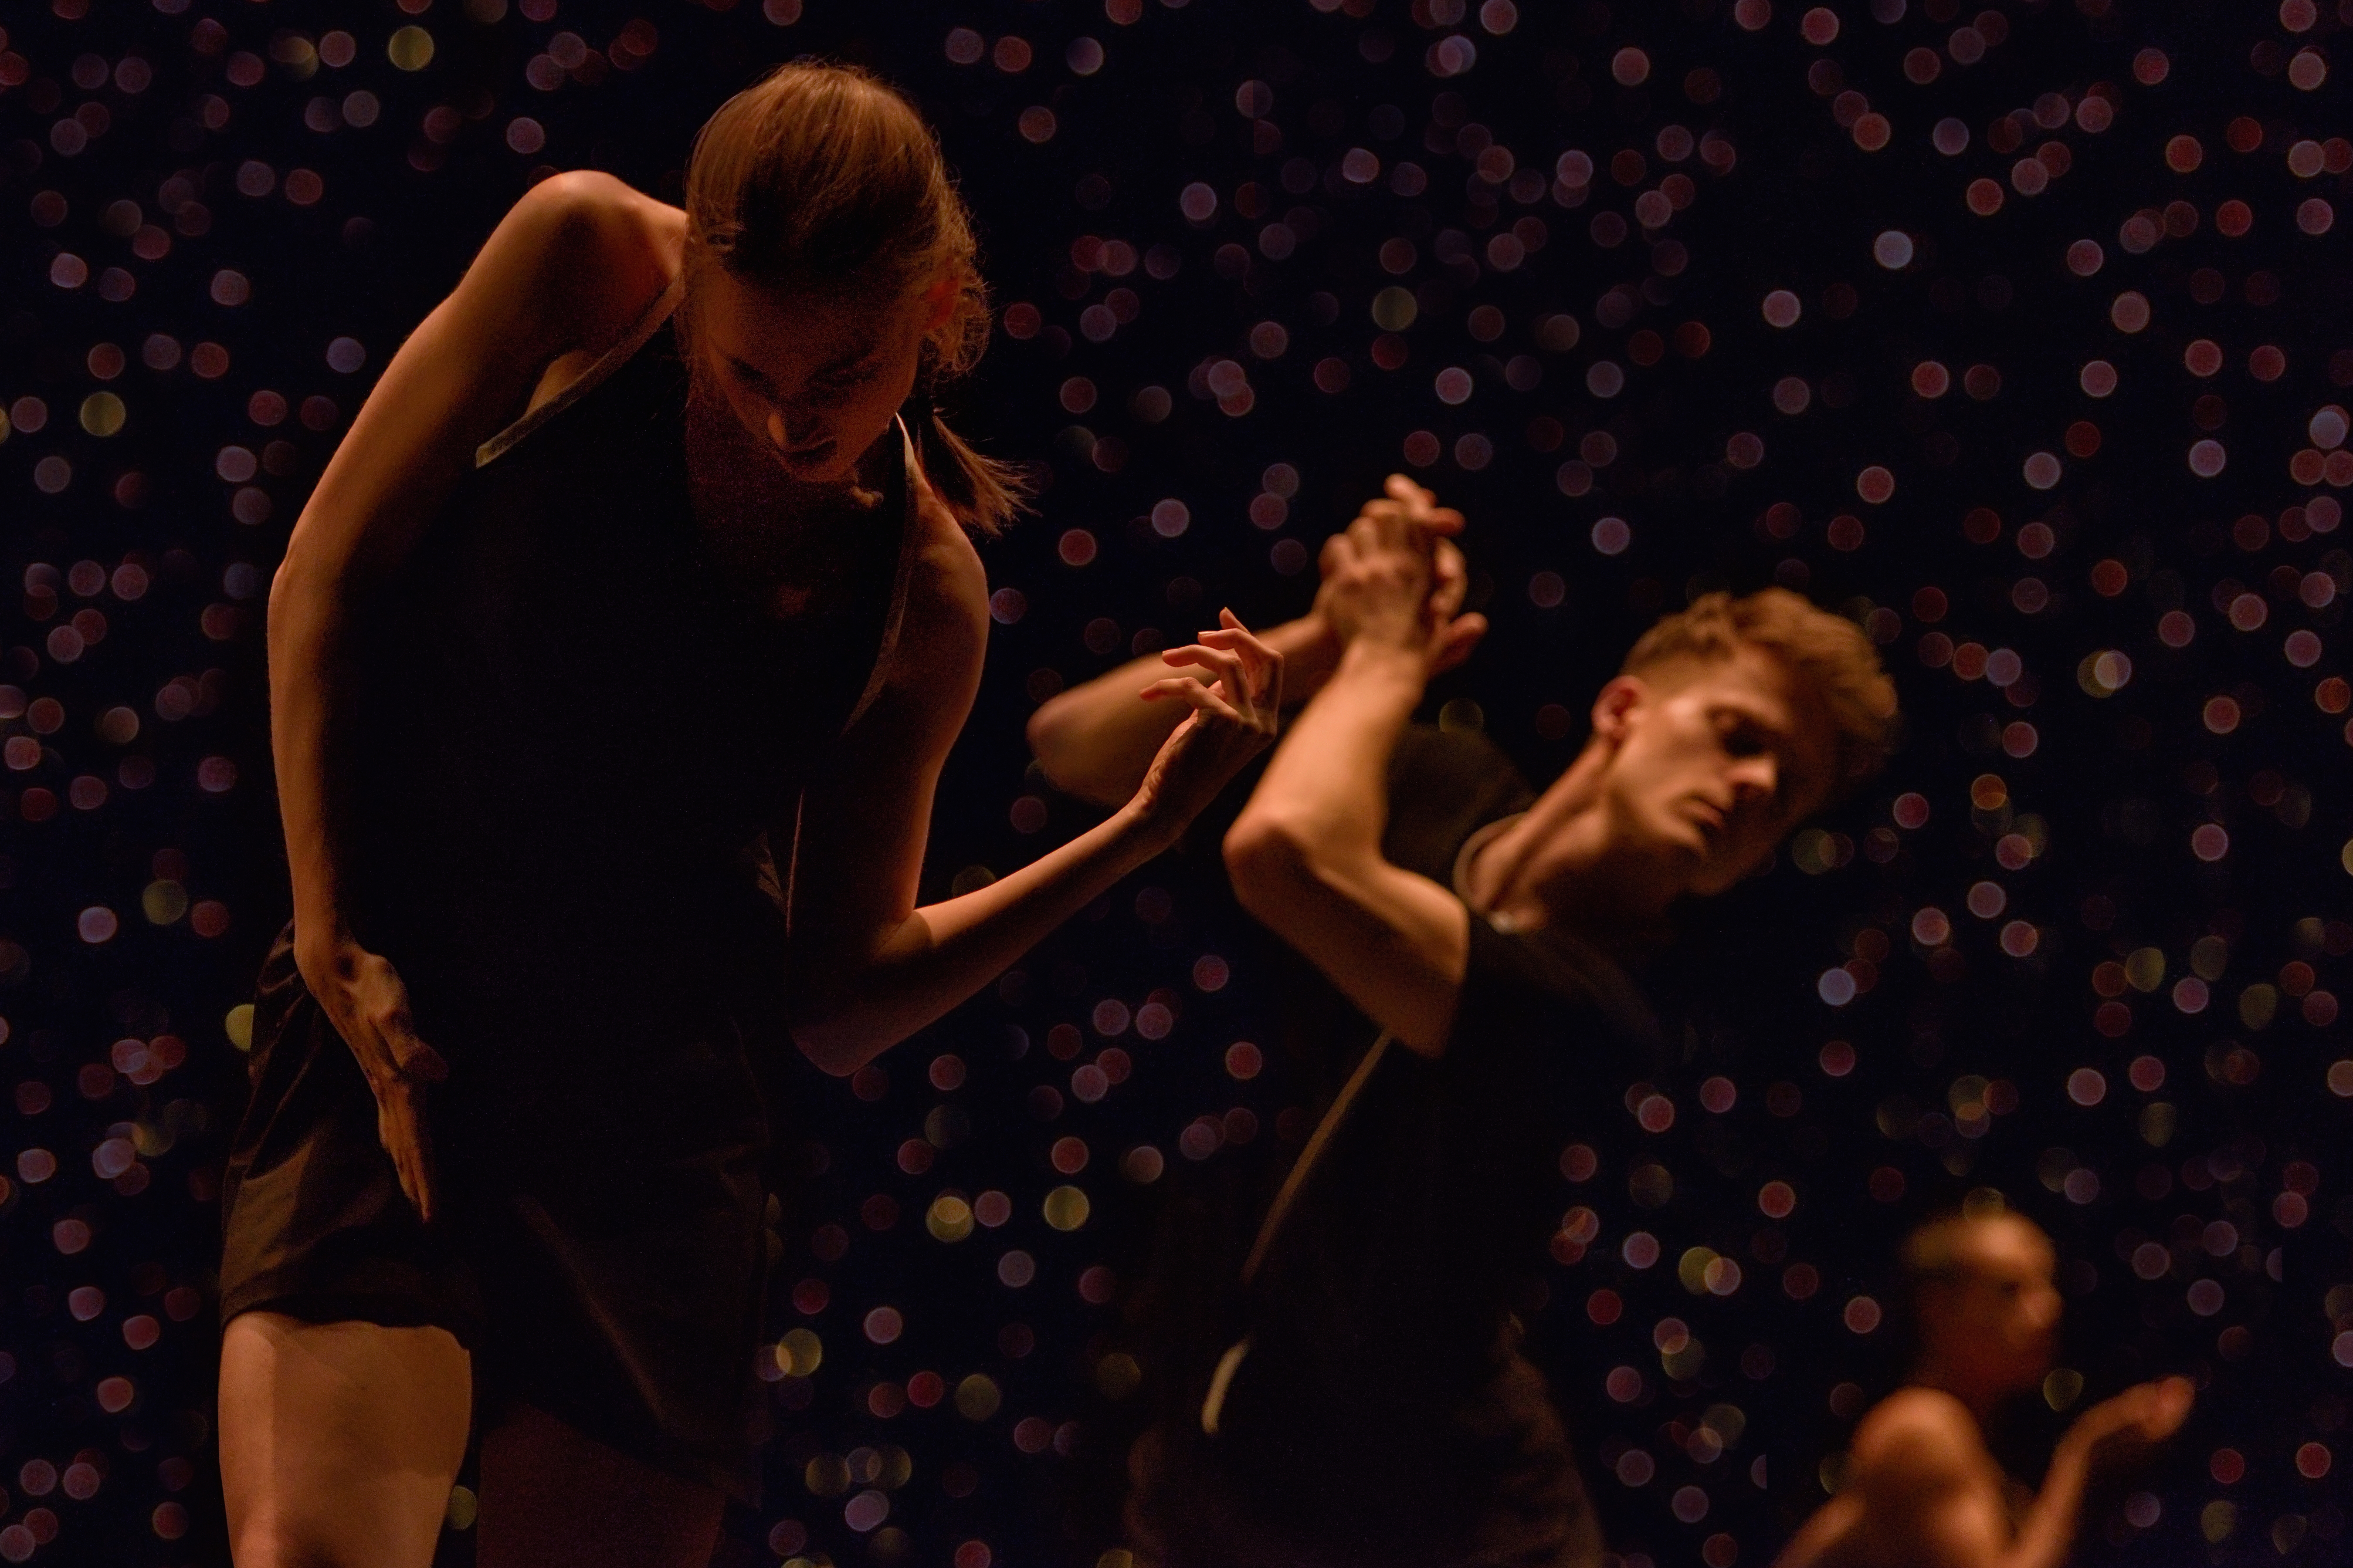
POLYGON ((1760 646, 1798 677, 1817 701, 1835 736, 1831 795, 1871 778, 1894 745, 1897 686, 1880 668, 1880 654, 1864 628, 1845 616, 1814 609, 1786 588, 1732 597, 1708 592, 1689 609, 1661 618, 1626 654, 1624 675, 1642 675, 1682 661, 1718 661, 1760 646))

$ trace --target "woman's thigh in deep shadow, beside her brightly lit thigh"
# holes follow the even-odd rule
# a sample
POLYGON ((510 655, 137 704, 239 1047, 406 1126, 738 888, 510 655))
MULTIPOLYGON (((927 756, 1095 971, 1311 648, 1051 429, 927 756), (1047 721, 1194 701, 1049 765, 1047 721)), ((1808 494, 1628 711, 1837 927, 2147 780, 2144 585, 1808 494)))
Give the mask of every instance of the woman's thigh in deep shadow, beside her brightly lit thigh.
POLYGON ((659 1472, 534 1406, 482 1434, 480 1568, 704 1568, 725 1493, 659 1472))

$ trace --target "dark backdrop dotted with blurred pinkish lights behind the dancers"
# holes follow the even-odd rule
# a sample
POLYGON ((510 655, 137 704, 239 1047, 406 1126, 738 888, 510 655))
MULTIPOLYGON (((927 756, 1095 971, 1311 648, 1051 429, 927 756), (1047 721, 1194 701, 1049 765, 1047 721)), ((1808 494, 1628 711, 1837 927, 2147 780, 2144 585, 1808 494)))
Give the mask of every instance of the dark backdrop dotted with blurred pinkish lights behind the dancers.
MULTIPOLYGON (((1612 1544, 1767 1561, 1897 1371, 1894 1316, 1857 1298, 1889 1300, 1904 1227, 1995 1187, 2066 1260, 2075 1408, 2165 1371, 2202 1389, 2169 1455, 2099 1500, 2085 1556, 2346 1561, 2353 1063, 2329 992, 2353 952, 2334 602, 2353 562, 2318 498, 2353 458, 2322 456, 2344 423, 2332 440, 2313 416, 2353 383, 2332 209, 2353 127, 2344 78, 2311 85, 2299 52, 2353 68, 2353 7, 1833 9, 1824 42, 1831 12, 1802 24, 1786 0, 12 7, 0 1559, 226 1556, 216 1180, 242 1103, 233 1009, 287 907, 261 597, 311 480, 536 174, 675 195, 704 115, 814 52, 885 73, 939 127, 1007 306, 951 416, 1049 480, 1040 515, 984 545, 998 625, 927 891, 1087 820, 1026 771, 1038 701, 1221 602, 1297 614, 1313 545, 1391 468, 1471 515, 1497 621, 1433 710, 1539 778, 1654 614, 1711 585, 1805 588, 1885 644, 1908 743, 1694 922, 1661 985, 1673 1126, 1640 1131, 1628 1095, 1593 1175, 1560 1178, 1562 1262, 1529 1324, 1612 1544), (2089 129, 2092 99, 2113 125, 2089 129), (1889 125, 1880 150, 1866 113, 1889 125), (1958 155, 1932 148, 1944 118, 1967 129, 1958 155), (2177 136, 2200 143, 2188 172, 2177 136), (1555 179, 1569 150, 1588 186, 1555 179), (2045 179, 2014 174, 2038 150, 2045 179), (1977 179, 2000 212, 1969 209, 1977 179), (1181 207, 1195 181, 1205 221, 1181 207), (1666 212, 1638 214, 1657 190, 1666 212), (1899 268, 1875 259, 1889 230, 1911 240, 1899 268), (2071 268, 2080 240, 2094 270, 2082 249, 2071 268), (1400 284, 1414 320, 1377 324, 1377 289, 1400 284), (1765 320, 1774 289, 1802 303, 1788 329, 1765 320), (2111 313, 2127 292, 2146 329, 2111 313), (2219 348, 2214 374, 2193 341, 2219 348), (2092 360, 2113 395, 2085 390, 2092 360), (1920 362, 1951 388, 1922 397, 1920 362), (1440 400, 1449 367, 1468 400, 1440 400), (1247 407, 1219 402, 1235 371, 1247 407), (1774 404, 1791 376, 1798 414, 1774 404), (2200 440, 2226 454, 2214 477, 2191 468, 2200 440), (2061 458, 2057 487, 2028 484, 2031 454, 2061 458), (1871 465, 1892 498, 1861 496, 1871 465), (1148 522, 1162 501, 1181 531, 1148 522), (1602 517, 1631 524, 1621 552, 1595 548, 1619 538, 1602 517), (2087 663, 2104 651, 2129 658, 2113 693, 2087 663), (2224 837, 2200 858, 2207 827, 2224 837), (1972 914, 1977 884, 2007 907, 1972 914), (1779 1222, 1774 1180, 1795 1194, 1779 1222), (1624 1251, 1638 1229, 1664 1248, 1647 1269, 1624 1251), (1699 1255, 1687 1288, 1689 1248, 1739 1284, 1718 1269, 1729 1293, 1708 1293, 1699 1255), (1607 1326, 1602 1291, 1624 1302, 1607 1326), (1664 1356, 1682 1340, 1661 1319, 1701 1354, 1664 1356), (1640 1373, 1633 1401, 1612 1368, 1640 1373)), ((1115 1547, 1106 1486, 1141 1408, 1120 1302, 1155 1206, 1257 1175, 1301 1131, 1282 1063, 1226 1067, 1268 1032, 1266 971, 1179 856, 856 1084, 807 1074, 812 1178, 779 1227, 772 1328, 814 1331, 824 1363, 774 1385, 767 1507, 729 1519, 722 1561, 1115 1547), (1153 1182, 1134 1180, 1146 1145, 1153 1182), (1045 1218, 1061 1185, 1092 1201, 1068 1232, 1045 1218), (934 1239, 941 1192, 1002 1192, 1012 1218, 934 1239), (1014 1248, 1035 1265, 1019 1288, 1014 1248), (882 1305, 904 1333, 875 1345, 882 1305), (984 1420, 953 1394, 925 1408, 972 1375, 1000 1394, 984 1420)), ((2059 1422, 2005 1434, 2021 1474, 2059 1422)), ((454 1528, 445 1556, 468 1542, 454 1528)))

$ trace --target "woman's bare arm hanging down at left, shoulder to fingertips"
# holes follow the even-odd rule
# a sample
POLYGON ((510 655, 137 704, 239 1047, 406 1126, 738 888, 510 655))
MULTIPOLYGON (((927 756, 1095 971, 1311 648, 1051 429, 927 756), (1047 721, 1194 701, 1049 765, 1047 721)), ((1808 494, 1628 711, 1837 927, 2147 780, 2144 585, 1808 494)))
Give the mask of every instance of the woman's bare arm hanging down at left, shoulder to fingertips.
MULTIPOLYGON (((515 416, 541 369, 619 334, 616 294, 659 292, 645 202, 605 176, 541 183, 499 223, 459 287, 400 346, 320 475, 271 583, 271 755, 294 882, 294 961, 376 1091, 400 1185, 431 1213, 421 1084, 442 1072, 407 992, 351 936, 344 910, 344 724, 353 602, 414 548, 473 449, 515 416), (647 235, 633 244, 631 235, 647 235), (584 266, 584 261, 598 266, 584 266), (652 284, 652 287, 647 287, 652 284)), ((649 205, 649 202, 645 202, 649 205)), ((640 299, 642 306, 642 299, 640 299)))

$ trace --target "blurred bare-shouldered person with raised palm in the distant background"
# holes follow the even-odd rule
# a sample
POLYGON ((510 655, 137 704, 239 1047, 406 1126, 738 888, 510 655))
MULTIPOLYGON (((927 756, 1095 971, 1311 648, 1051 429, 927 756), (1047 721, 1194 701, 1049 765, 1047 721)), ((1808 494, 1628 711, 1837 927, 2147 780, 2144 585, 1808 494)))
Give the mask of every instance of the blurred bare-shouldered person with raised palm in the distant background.
MULTIPOLYGON (((2059 1568, 2094 1462, 2174 1434, 2191 1385, 2129 1387, 2059 1439, 2042 1490, 2012 1509, 1986 1453, 1995 1406, 2042 1385, 2059 1342, 2052 1244, 2017 1213, 1953 1215, 1904 1241, 1920 1359, 1854 1429, 1847 1479, 1779 1568, 2059 1568)), ((2019 1488, 2024 1493, 2024 1488, 2019 1488)))

